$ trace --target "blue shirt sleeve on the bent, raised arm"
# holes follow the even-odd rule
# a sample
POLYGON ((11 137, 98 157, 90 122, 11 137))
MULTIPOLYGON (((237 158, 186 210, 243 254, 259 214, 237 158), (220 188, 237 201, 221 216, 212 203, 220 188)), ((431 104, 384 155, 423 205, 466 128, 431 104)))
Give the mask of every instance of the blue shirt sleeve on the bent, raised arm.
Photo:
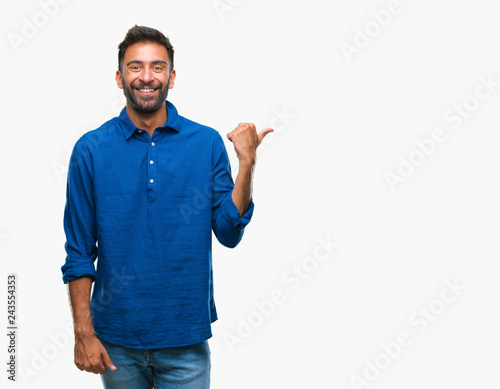
POLYGON ((222 138, 214 143, 213 153, 213 201, 212 229, 217 240, 226 247, 236 247, 243 237, 246 225, 250 222, 254 210, 250 200, 248 211, 239 217, 239 211, 232 199, 234 182, 231 177, 231 165, 222 138))

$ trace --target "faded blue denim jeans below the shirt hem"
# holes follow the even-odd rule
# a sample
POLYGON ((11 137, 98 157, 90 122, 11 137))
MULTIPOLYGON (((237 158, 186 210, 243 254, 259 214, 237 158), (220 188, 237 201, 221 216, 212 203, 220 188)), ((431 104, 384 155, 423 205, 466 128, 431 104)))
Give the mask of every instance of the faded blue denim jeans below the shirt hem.
POLYGON ((116 370, 101 375, 105 389, 208 389, 208 341, 184 347, 132 349, 99 338, 116 370))

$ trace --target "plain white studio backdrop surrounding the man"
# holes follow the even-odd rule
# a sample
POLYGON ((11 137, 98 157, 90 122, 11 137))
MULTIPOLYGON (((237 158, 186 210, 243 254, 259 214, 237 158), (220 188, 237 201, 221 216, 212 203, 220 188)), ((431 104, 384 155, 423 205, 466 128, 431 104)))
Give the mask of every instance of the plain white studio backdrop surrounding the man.
POLYGON ((17 381, 4 364, 2 387, 101 385, 73 364, 60 271, 67 162, 76 140, 125 103, 117 45, 134 24, 170 37, 177 79, 168 99, 181 115, 224 139, 239 122, 276 129, 259 149, 243 241, 213 244, 213 388, 496 382, 496 2, 2 8, 2 323, 7 274, 18 278, 17 381))

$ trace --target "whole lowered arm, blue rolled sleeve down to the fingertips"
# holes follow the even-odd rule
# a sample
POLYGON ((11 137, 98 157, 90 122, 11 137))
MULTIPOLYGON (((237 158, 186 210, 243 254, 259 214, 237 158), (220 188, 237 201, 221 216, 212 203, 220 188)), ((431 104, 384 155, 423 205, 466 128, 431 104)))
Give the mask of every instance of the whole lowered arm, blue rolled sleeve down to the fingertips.
POLYGON ((95 278, 97 223, 91 143, 82 137, 73 149, 68 168, 64 231, 66 262, 62 266, 67 284, 75 331, 75 364, 80 370, 104 373, 116 368, 94 334, 90 292, 95 278))

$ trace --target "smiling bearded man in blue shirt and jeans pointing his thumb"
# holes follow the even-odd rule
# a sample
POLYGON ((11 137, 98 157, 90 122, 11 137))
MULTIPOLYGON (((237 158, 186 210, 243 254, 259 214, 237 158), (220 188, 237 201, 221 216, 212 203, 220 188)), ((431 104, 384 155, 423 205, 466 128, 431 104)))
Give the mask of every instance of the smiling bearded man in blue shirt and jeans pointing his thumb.
POLYGON ((118 49, 126 107, 76 142, 68 171, 61 269, 75 364, 105 388, 208 388, 212 231, 227 247, 241 240, 256 149, 273 130, 240 123, 227 134, 233 183, 219 133, 166 101, 176 75, 168 38, 135 26, 118 49))

